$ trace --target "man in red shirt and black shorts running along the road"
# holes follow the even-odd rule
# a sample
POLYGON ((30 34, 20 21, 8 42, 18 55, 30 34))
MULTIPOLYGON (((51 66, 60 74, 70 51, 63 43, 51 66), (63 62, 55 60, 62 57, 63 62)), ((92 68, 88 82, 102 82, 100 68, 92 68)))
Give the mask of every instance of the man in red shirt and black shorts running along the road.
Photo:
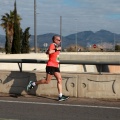
POLYGON ((69 97, 62 94, 62 77, 60 74, 59 69, 59 54, 61 51, 60 47, 60 36, 55 35, 52 38, 53 43, 50 44, 46 54, 49 55, 49 60, 46 65, 46 79, 42 79, 36 82, 30 81, 27 86, 27 91, 34 88, 36 85, 39 84, 49 84, 49 82, 52 79, 52 76, 54 75, 57 79, 57 88, 58 88, 58 101, 64 101, 67 100, 69 97))

